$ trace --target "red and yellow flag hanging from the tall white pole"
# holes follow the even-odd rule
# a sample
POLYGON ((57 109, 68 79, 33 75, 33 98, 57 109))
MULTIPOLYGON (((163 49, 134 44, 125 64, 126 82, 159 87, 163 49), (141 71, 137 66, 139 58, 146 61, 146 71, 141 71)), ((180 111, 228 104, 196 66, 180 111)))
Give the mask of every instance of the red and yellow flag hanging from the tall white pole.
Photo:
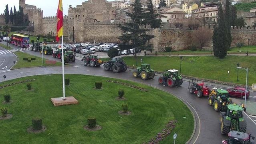
POLYGON ((56 41, 60 40, 60 37, 63 36, 63 8, 62 8, 62 0, 58 2, 58 10, 57 10, 57 36, 56 41))

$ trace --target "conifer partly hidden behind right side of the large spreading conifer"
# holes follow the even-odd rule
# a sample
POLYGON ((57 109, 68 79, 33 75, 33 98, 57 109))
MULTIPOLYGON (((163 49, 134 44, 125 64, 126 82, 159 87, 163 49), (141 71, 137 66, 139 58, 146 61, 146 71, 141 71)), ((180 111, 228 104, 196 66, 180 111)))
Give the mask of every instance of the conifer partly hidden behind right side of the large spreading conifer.
POLYGON ((155 14, 151 0, 149 0, 149 3, 147 4, 146 11, 143 19, 144 25, 150 25, 151 30, 153 28, 159 28, 161 26, 161 20, 157 19, 158 14, 155 14))

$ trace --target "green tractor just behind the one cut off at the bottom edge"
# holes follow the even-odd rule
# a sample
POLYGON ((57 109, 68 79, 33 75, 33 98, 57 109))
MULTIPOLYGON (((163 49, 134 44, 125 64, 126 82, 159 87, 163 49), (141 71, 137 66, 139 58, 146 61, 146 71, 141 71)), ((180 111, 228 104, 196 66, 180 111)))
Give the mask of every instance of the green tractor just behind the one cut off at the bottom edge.
POLYGON ((231 130, 246 132, 246 120, 243 118, 243 106, 228 104, 227 110, 220 114, 220 122, 221 134, 228 134, 231 130))

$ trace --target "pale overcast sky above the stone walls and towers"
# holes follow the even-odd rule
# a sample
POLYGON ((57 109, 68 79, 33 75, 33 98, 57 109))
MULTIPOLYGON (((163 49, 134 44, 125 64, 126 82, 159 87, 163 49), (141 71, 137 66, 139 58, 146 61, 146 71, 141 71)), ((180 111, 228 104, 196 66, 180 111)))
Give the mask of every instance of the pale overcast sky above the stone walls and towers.
MULTIPOLYGON (((26 0, 26 4, 34 5, 37 8, 41 8, 44 11, 44 16, 56 16, 59 0, 26 0)), ((85 0, 62 0, 63 5, 63 15, 68 15, 69 5, 76 7, 79 4, 82 4, 85 0)), ((86 0, 87 1, 87 0, 86 0)), ((113 1, 113 0, 108 0, 113 1)), ((16 7, 16 10, 19 9, 19 0, 0 0, 0 14, 4 13, 5 5, 8 4, 9 12, 12 7, 16 7)))

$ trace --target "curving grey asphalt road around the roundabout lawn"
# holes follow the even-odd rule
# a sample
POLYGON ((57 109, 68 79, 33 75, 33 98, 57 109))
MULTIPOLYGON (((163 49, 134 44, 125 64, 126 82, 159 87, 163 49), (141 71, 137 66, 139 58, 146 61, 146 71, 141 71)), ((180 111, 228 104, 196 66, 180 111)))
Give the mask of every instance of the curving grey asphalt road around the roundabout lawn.
MULTIPOLYGON (((40 56, 39 52, 26 51, 26 53, 40 56)), ((57 60, 57 58, 52 58, 52 56, 44 55, 44 58, 50 60, 57 60)), ((111 71, 105 71, 103 66, 99 68, 92 68, 90 66, 84 66, 83 62, 77 60, 73 64, 75 67, 65 67, 66 74, 89 74, 89 75, 97 75, 97 76, 105 76, 112 78, 121 78, 125 80, 131 80, 135 82, 140 82, 143 84, 147 84, 153 86, 155 88, 159 88, 166 92, 169 92, 181 100, 185 102, 188 107, 193 112, 196 119, 196 132, 190 142, 190 144, 219 144, 223 139, 226 139, 227 136, 223 136, 220 133, 220 113, 214 111, 213 106, 208 105, 207 98, 198 98, 194 94, 190 94, 188 92, 188 82, 184 81, 180 87, 169 88, 167 86, 163 86, 158 84, 157 76, 153 80, 142 80, 141 78, 132 77, 131 71, 126 71, 123 73, 115 74, 111 71)), ((1 72, 0 75, 6 75, 7 79, 14 79, 24 76, 31 75, 40 75, 40 74, 61 74, 61 67, 42 67, 42 68, 25 68, 18 70, 10 70, 8 72, 1 72)), ((0 77, 0 82, 3 81, 0 77)), ((218 84, 210 84, 209 87, 220 87, 218 84)), ((225 87, 225 86, 222 86, 225 87)), ((249 100, 253 100, 250 98, 249 100)), ((244 114, 244 118, 247 121, 247 131, 250 131, 254 136, 256 135, 256 123, 252 120, 252 117, 248 116, 246 113, 244 114)))

